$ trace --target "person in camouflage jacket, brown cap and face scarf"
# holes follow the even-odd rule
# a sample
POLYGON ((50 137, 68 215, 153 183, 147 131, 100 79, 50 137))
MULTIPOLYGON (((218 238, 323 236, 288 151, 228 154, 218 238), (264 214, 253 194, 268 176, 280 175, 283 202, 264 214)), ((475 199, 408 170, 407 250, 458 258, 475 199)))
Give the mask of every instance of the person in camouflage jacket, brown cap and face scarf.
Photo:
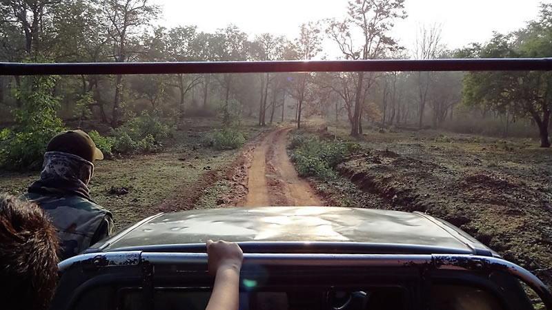
POLYGON ((44 154, 39 180, 22 198, 46 211, 61 240, 61 259, 82 253, 114 231, 110 211, 90 197, 88 183, 95 160, 103 159, 92 138, 81 130, 62 132, 44 154))

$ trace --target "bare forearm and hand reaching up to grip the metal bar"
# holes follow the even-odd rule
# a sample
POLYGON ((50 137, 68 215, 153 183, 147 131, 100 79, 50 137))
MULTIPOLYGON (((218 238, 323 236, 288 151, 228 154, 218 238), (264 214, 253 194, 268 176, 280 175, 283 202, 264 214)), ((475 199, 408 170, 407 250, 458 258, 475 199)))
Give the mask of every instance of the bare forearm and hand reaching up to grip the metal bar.
POLYGON ((244 254, 233 242, 207 241, 208 268, 215 276, 207 310, 237 310, 239 305, 239 270, 244 254))

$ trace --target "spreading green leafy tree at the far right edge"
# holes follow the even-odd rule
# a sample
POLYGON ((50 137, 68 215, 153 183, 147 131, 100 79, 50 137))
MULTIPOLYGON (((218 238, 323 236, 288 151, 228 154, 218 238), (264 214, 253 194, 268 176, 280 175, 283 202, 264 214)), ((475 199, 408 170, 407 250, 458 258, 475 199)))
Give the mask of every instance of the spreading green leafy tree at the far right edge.
MULTIPOLYGON (((460 56, 481 58, 545 57, 552 52, 552 5, 513 34, 495 34, 486 45, 474 45, 460 56)), ((464 79, 464 105, 482 105, 500 114, 530 116, 538 126, 540 146, 550 147, 552 74, 549 72, 470 72, 464 79)))

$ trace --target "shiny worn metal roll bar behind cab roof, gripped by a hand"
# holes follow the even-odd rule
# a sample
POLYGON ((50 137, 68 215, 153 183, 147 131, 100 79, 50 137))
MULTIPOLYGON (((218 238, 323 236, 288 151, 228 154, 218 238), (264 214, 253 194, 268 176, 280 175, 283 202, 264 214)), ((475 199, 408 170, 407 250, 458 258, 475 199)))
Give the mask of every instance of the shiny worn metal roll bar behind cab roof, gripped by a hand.
MULTIPOLYGON (((121 251, 90 253, 60 262, 59 271, 72 265, 117 267, 128 265, 207 265, 206 253, 148 253, 121 251)), ((546 309, 552 309, 552 293, 531 272, 501 258, 464 254, 244 254, 244 266, 317 266, 317 267, 420 267, 463 271, 502 271, 531 287, 546 309)))

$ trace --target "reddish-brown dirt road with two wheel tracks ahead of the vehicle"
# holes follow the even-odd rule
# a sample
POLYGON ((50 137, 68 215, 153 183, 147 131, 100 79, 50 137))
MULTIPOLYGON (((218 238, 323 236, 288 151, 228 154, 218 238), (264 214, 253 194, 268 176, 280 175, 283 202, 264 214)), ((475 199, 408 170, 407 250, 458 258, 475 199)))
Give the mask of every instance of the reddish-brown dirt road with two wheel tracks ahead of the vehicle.
POLYGON ((286 152, 289 128, 266 135, 253 151, 245 207, 321 205, 311 186, 297 176, 286 152))

